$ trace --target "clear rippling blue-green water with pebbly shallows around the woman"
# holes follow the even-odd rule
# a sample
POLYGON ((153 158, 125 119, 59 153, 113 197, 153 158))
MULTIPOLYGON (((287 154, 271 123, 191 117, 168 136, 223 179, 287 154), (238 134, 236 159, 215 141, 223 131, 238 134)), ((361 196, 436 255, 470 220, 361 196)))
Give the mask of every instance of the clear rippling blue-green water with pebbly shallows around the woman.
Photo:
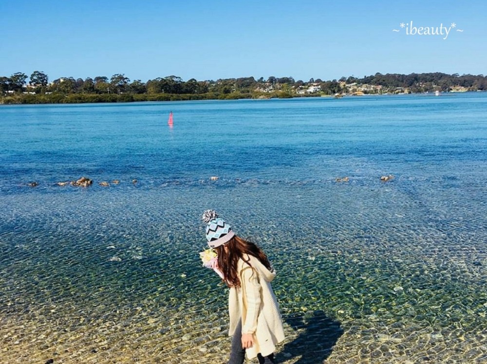
POLYGON ((206 208, 278 271, 281 363, 486 363, 486 106, 2 105, 0 363, 225 362, 206 208))

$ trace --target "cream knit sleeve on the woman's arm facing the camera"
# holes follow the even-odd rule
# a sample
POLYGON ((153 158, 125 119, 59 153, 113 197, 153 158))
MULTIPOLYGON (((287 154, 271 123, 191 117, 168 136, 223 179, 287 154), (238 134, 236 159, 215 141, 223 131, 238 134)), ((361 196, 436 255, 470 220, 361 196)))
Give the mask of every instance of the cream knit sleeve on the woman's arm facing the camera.
POLYGON ((242 322, 242 333, 253 334, 257 329, 257 317, 261 308, 261 284, 259 274, 252 267, 246 267, 241 273, 244 305, 246 306, 245 319, 242 322))

